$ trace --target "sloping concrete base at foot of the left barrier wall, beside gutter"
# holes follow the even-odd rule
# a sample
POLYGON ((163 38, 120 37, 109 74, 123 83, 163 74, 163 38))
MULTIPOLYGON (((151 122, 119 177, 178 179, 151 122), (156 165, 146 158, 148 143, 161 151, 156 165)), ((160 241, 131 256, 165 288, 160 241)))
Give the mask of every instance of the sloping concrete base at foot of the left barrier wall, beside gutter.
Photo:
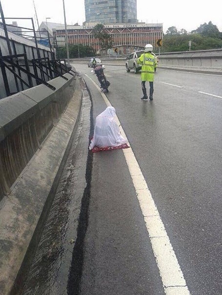
POLYGON ((41 227, 62 169, 81 109, 81 87, 76 90, 57 125, 29 161, 0 203, 0 294, 16 294, 35 253, 41 227), (55 181, 56 182, 56 181, 55 181), (51 195, 51 196, 50 196, 51 195), (27 251, 28 249, 28 251, 27 251), (28 259, 27 259, 28 258, 28 259), (17 278, 16 278, 17 277, 17 278), (17 281, 12 291, 14 282, 17 281))

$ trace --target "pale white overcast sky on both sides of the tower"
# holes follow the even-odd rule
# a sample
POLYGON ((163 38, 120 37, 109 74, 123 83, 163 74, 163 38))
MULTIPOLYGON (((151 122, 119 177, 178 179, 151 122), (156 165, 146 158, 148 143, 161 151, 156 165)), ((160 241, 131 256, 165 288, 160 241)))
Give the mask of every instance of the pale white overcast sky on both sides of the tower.
MULTIPOLYGON (((82 24, 85 20, 84 0, 64 0, 67 24, 82 24)), ((62 0, 34 0, 39 24, 45 18, 51 22, 64 23, 62 0)), ((34 18, 37 21, 33 0, 1 0, 4 17, 34 18)), ((146 23, 162 23, 163 32, 175 26, 178 30, 185 29, 190 32, 197 29, 204 22, 212 21, 222 32, 222 13, 219 0, 211 0, 204 4, 200 0, 137 0, 137 18, 146 23), (154 9, 149 9, 153 5, 154 9)), ((10 21, 11 22, 11 21, 10 21)), ((20 26, 27 23, 17 20, 20 26)), ((30 27, 30 25, 29 25, 30 27)))

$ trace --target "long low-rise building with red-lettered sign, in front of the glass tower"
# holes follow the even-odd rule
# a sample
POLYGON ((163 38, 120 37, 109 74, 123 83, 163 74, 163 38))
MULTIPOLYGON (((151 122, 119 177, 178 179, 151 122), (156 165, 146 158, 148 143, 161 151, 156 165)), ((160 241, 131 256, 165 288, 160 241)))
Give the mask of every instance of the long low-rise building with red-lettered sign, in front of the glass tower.
MULTIPOLYGON (((93 28, 96 25, 67 26, 68 42, 70 44, 82 44, 93 47, 96 51, 101 49, 99 39, 93 36, 93 28)), ((114 46, 139 46, 144 47, 147 43, 157 49, 156 41, 162 39, 162 23, 118 23, 104 25, 104 30, 113 39, 114 46)), ((65 39, 65 28, 56 28, 57 43, 60 44, 65 39)), ((64 46, 64 45, 63 45, 64 46)))

